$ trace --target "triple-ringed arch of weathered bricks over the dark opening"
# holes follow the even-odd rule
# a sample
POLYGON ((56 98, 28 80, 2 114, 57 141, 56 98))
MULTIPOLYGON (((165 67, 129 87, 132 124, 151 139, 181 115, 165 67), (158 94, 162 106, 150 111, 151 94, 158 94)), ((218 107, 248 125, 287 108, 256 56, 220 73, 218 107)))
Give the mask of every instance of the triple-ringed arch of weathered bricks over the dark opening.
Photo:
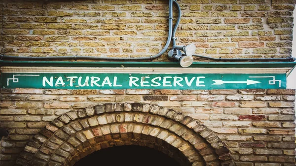
POLYGON ((34 136, 17 166, 73 166, 111 146, 148 146, 182 166, 234 165, 219 137, 172 109, 142 103, 106 103, 67 112, 34 136))

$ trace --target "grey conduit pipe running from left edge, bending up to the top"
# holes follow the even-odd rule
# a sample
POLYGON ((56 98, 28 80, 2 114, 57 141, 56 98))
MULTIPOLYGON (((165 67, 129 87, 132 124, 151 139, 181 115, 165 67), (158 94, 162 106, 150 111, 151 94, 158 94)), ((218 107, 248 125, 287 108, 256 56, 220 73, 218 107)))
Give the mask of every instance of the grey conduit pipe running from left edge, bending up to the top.
MULTIPOLYGON (((0 60, 111 60, 111 61, 141 61, 141 60, 152 60, 161 56, 169 47, 172 34, 173 34, 173 1, 178 4, 175 0, 169 1, 169 34, 166 45, 164 48, 156 55, 150 57, 140 57, 140 58, 111 58, 111 57, 83 57, 83 56, 67 56, 67 57, 15 57, 15 56, 6 56, 0 55, 0 60)), ((179 6, 180 8, 180 6, 179 6)), ((178 17, 177 23, 180 23, 181 16, 178 17)), ((177 31, 178 26, 175 27, 175 32, 177 31)))

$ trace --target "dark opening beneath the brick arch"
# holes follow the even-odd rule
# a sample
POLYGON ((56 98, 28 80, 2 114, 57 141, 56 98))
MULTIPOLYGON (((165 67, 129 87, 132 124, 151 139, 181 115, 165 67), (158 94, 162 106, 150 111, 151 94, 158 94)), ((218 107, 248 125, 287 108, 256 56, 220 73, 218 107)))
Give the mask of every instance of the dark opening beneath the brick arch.
POLYGON ((114 146, 96 151, 74 166, 181 166, 173 158, 142 146, 114 146))

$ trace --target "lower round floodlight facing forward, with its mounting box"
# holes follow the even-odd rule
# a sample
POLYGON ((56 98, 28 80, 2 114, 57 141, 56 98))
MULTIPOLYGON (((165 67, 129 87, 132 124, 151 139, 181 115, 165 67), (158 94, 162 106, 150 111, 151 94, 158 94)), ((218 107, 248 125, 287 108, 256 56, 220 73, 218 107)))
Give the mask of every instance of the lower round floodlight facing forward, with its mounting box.
POLYGON ((175 58, 176 60, 180 61, 180 65, 182 67, 188 67, 193 63, 192 56, 183 56, 180 50, 170 50, 168 56, 170 58, 175 58))

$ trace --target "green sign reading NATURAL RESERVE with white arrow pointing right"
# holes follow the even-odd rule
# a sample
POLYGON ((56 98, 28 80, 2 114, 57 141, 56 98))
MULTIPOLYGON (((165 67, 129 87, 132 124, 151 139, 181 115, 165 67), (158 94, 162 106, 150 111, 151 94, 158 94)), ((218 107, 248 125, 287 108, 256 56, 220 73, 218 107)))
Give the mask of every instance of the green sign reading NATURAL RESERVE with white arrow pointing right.
POLYGON ((1 88, 285 89, 285 73, 1 73, 1 88))

